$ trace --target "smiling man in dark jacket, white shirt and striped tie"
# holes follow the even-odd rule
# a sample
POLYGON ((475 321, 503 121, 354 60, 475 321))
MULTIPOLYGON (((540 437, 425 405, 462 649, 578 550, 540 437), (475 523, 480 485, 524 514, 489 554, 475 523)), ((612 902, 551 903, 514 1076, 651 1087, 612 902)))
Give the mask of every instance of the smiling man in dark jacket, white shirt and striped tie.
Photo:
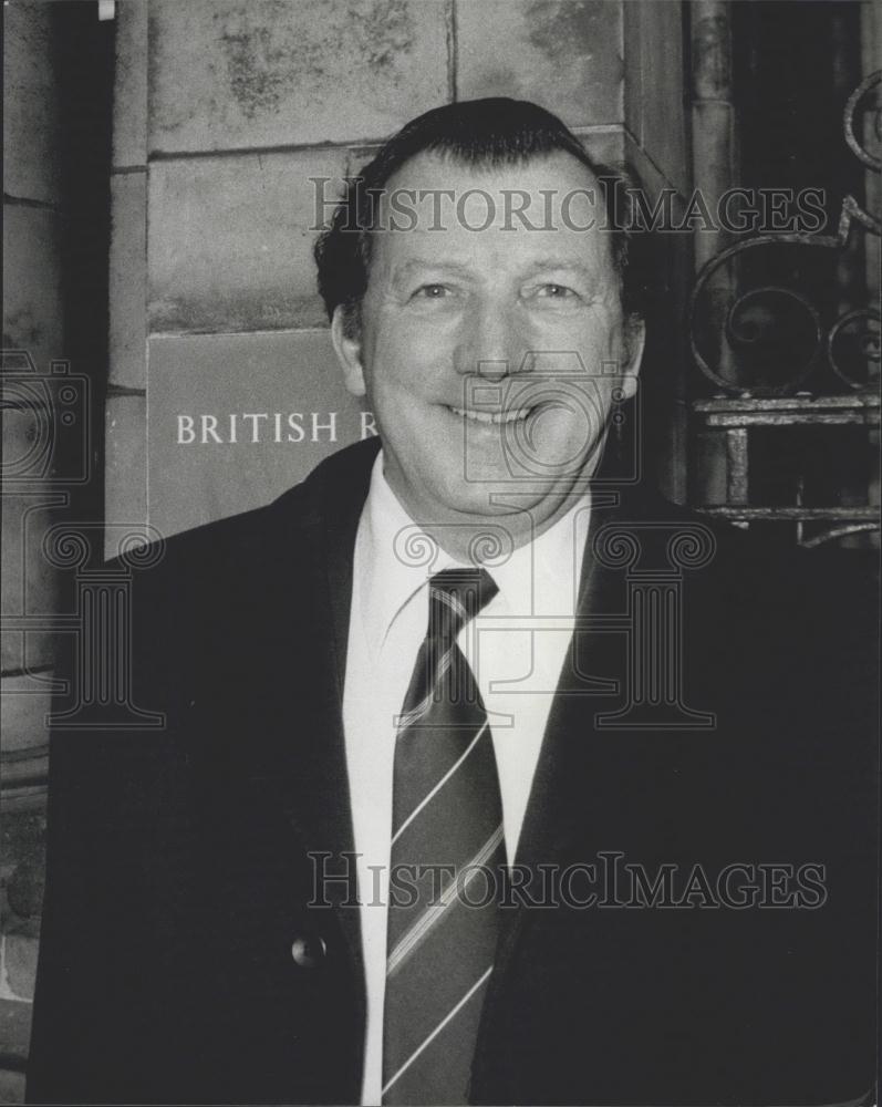
POLYGON ((616 480, 599 176, 496 100, 351 185, 320 287, 380 441, 168 542, 160 735, 59 735, 32 1101, 871 1093, 860 584, 616 480))

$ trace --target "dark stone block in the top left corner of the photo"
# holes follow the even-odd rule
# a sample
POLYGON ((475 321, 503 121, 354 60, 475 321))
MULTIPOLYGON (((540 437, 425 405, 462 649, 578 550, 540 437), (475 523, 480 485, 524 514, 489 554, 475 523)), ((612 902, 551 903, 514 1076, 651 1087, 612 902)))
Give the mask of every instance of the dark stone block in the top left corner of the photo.
POLYGON ((59 104, 52 6, 3 6, 3 192, 58 204, 59 104))

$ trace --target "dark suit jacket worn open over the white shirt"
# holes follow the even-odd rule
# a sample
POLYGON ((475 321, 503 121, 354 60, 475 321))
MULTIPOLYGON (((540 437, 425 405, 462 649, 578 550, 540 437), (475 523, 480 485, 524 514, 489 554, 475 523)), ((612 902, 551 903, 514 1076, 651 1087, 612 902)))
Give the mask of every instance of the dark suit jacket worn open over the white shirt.
MULTIPOLYGON (((330 866, 353 849, 341 699, 375 448, 172 539, 136 580, 134 700, 166 726, 53 739, 31 1101, 357 1103, 357 910, 342 882, 334 907, 308 906, 308 851, 330 866), (324 943, 311 965, 299 938, 324 943)), ((714 727, 675 704, 668 730, 605 728, 633 685, 634 571, 667 563, 671 531, 639 527, 646 561, 627 569, 598 536, 672 521, 694 523, 643 494, 593 509, 593 629, 564 666, 517 861, 673 865, 676 897, 696 863, 712 893, 733 862, 822 878, 812 891, 803 872, 801 907, 800 878, 766 870, 765 907, 714 906, 698 880, 702 907, 504 911, 475 1103, 832 1104, 872 1085, 872 603, 828 556, 720 528, 675 606, 682 706, 714 727)))

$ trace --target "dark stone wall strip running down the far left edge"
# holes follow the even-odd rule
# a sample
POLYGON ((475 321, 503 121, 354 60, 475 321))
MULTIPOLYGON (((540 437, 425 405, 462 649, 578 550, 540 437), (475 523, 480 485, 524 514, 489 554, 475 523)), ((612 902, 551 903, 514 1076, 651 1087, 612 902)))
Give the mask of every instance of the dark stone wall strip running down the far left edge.
POLYGON ((63 186, 55 28, 46 4, 4 9, 2 783, 0 1101, 20 1101, 42 899, 44 770, 53 642, 17 620, 58 607, 40 557, 54 517, 46 377, 64 354, 63 186), (9 355, 7 351, 15 351, 9 355))

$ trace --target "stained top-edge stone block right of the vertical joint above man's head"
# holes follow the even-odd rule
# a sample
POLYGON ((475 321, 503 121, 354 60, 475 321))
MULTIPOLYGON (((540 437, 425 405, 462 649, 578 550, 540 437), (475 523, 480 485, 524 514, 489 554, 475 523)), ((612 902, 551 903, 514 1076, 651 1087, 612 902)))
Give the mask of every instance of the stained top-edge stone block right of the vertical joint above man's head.
POLYGON ((457 0, 460 100, 531 100, 571 127, 622 121, 622 4, 457 0))

